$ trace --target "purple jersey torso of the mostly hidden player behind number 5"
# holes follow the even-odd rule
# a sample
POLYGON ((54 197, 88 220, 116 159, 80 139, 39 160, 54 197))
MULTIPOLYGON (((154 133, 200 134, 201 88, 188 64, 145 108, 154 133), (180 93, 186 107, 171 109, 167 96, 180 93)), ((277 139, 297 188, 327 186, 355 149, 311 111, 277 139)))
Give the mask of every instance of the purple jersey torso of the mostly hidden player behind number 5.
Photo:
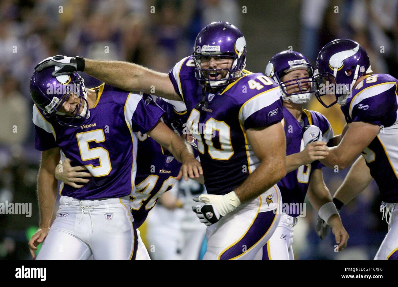
MULTIPOLYGON (((156 201, 176 183, 181 163, 148 135, 138 133, 135 193, 130 196, 134 226, 139 228, 156 201)), ((197 151, 194 150, 197 157, 197 151)))

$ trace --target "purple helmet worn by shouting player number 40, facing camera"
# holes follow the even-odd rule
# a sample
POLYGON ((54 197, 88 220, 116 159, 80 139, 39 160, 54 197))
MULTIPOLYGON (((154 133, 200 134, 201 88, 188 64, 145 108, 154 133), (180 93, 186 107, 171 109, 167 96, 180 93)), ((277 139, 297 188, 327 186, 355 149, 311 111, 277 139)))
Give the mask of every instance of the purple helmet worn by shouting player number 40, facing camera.
POLYGON ((204 27, 196 37, 193 50, 195 77, 202 86, 222 87, 242 76, 246 63, 246 40, 231 23, 217 21, 204 27), (202 69, 203 57, 211 56, 231 58, 232 65, 224 69, 202 69), (224 70, 228 71, 226 76, 217 78, 224 70), (214 74, 213 79, 209 78, 210 73, 214 74))

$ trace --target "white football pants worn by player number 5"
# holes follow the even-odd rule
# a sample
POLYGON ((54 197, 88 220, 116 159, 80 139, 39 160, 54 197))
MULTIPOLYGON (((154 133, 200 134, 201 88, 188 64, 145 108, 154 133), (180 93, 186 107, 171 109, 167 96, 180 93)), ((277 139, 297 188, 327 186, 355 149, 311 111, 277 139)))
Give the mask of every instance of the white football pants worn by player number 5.
POLYGON ((94 259, 135 259, 139 244, 133 221, 129 197, 78 200, 61 196, 57 218, 37 259, 88 259, 91 255, 94 259))

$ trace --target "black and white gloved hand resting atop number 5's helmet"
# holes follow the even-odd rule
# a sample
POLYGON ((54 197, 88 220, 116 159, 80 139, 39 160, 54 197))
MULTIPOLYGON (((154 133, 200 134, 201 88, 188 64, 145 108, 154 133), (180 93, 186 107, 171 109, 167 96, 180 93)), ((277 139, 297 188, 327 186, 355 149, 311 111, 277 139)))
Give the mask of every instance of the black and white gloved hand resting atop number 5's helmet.
POLYGON ((59 67, 59 69, 54 70, 54 72, 52 73, 54 77, 64 74, 73 74, 74 72, 84 70, 84 58, 57 55, 39 62, 39 64, 35 66, 35 70, 41 71, 44 68, 51 66, 59 67))

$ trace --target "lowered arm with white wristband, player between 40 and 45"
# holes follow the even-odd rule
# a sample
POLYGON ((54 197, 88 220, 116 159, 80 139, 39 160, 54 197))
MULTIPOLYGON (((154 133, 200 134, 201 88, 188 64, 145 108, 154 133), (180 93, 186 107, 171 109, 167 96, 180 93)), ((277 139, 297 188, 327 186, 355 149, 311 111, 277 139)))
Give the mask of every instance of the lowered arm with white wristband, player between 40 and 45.
POLYGON ((324 183, 320 168, 312 172, 307 194, 311 205, 318 211, 320 218, 332 227, 332 232, 336 237, 336 244, 339 245, 339 251, 343 250, 347 246, 349 235, 341 223, 341 218, 332 202, 329 189, 324 183))

